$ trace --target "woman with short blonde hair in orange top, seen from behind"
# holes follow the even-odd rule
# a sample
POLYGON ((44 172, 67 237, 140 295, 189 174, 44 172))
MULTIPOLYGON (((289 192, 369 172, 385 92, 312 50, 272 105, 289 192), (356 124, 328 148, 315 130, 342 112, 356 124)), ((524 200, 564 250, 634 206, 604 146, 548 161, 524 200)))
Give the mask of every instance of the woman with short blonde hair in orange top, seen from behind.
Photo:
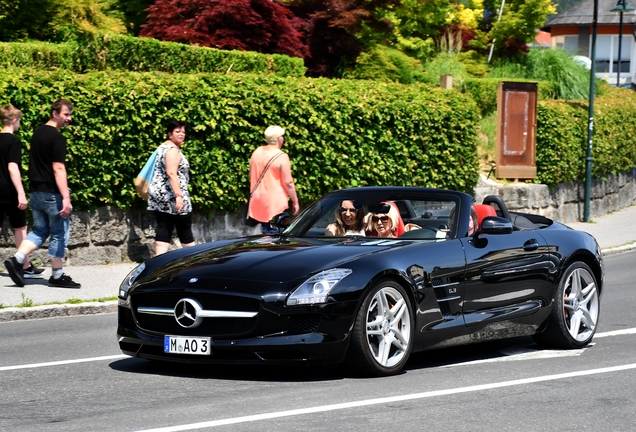
POLYGON ((300 211, 289 156, 281 150, 284 134, 282 127, 269 126, 265 129, 266 144, 254 150, 250 158, 248 216, 261 223, 263 234, 278 233, 269 221, 289 208, 289 199, 292 214, 300 211))

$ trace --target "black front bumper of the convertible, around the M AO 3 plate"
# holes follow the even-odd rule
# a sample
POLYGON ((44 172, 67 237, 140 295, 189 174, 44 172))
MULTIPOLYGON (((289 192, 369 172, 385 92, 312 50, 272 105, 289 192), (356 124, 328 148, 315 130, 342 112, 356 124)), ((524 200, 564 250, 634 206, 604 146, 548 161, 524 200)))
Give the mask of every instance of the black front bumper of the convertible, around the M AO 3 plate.
MULTIPOLYGON (((140 323, 149 321, 140 316, 144 318, 140 322, 128 305, 120 301, 117 337, 124 354, 152 360, 204 364, 336 364, 344 360, 349 346, 354 305, 351 302, 304 311, 295 309, 294 312, 306 313, 290 315, 261 310, 249 331, 230 335, 206 333, 200 331, 201 328, 196 332, 179 331, 178 326, 166 326, 166 319, 161 325, 152 321, 155 325, 144 328, 140 323), (211 355, 165 353, 166 335, 209 336, 211 355)), ((168 321, 176 323, 173 317, 168 321)))

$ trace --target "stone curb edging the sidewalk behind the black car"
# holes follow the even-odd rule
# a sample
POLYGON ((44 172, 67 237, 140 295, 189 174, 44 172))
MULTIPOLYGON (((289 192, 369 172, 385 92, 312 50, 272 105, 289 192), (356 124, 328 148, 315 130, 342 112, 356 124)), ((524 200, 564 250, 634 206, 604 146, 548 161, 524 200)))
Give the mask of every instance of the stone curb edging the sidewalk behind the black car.
MULTIPOLYGON (((601 249, 603 256, 616 255, 636 249, 636 242, 623 246, 601 249)), ((117 300, 108 302, 86 302, 79 304, 57 304, 34 306, 30 308, 0 309, 0 322, 43 319, 65 316, 97 315, 117 312, 117 300)))

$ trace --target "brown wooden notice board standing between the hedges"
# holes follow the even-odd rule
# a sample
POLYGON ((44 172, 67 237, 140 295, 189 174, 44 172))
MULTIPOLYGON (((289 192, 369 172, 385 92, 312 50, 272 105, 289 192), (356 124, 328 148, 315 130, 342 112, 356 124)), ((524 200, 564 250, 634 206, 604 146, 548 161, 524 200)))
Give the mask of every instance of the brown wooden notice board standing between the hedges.
POLYGON ((499 83, 496 147, 497 178, 537 176, 537 83, 499 83))

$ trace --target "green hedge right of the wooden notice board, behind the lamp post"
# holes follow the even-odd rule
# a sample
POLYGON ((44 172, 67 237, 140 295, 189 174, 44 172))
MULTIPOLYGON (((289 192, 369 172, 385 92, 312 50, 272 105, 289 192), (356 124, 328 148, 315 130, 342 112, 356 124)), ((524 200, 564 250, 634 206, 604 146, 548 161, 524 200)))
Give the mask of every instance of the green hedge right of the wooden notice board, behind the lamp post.
MULTIPOLYGON (((537 107, 536 183, 584 181, 588 104, 540 101, 537 107)), ((636 167, 636 92, 607 89, 594 102, 592 176, 636 167)))

